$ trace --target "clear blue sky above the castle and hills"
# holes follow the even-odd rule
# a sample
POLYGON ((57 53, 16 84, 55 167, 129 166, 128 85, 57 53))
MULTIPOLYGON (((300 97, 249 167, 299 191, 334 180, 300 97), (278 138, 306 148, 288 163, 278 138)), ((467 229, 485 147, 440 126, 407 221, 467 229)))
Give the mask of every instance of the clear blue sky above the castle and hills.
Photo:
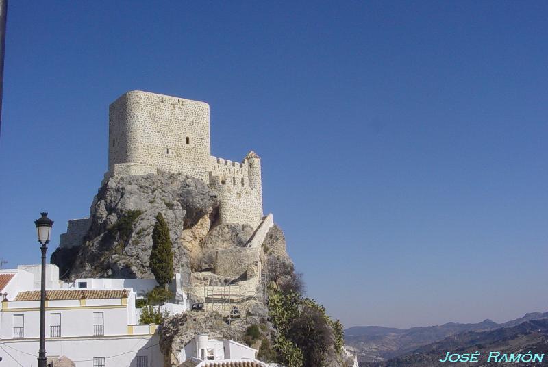
MULTIPOLYGON (((0 257, 88 216, 108 104, 211 106, 262 157, 264 211, 345 326, 547 311, 548 3, 10 1, 0 257)), ((51 253, 51 251, 50 251, 51 253)))

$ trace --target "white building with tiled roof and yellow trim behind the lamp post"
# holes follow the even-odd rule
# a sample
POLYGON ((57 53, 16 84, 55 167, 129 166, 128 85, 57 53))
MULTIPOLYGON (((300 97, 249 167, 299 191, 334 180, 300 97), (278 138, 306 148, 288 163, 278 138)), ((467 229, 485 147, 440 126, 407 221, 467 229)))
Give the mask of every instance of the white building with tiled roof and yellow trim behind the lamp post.
MULTIPOLYGON (((35 270, 36 266, 0 270, 2 366, 36 366, 40 282, 33 274, 40 272, 35 270)), ((123 287, 129 279, 78 279, 66 284, 58 279, 55 283, 55 270, 47 273, 53 275, 47 282, 47 357, 65 355, 77 367, 163 366, 155 333, 158 325, 138 325, 136 292, 123 287)), ((143 284, 147 286, 147 281, 143 284)))

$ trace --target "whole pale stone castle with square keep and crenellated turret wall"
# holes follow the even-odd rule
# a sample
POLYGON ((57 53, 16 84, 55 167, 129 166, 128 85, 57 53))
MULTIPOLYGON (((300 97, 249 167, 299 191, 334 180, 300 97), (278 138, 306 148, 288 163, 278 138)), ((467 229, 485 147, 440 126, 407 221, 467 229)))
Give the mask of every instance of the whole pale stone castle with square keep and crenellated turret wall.
POLYGON ((133 90, 109 108, 108 173, 147 175, 162 169, 197 177, 216 190, 222 223, 258 227, 262 220, 261 160, 213 157, 208 103, 133 90))

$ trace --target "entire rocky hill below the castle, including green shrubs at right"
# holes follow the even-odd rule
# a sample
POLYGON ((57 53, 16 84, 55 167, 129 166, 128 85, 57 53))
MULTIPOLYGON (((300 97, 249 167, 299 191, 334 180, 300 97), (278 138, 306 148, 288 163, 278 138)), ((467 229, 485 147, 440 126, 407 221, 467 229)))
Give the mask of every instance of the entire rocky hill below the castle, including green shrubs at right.
POLYGON ((261 242, 253 242, 259 230, 223 222, 219 205, 216 192, 182 173, 110 177, 92 201, 84 236, 67 236, 81 243, 60 246, 51 262, 72 280, 153 279, 152 232, 161 213, 173 272, 181 274, 190 304, 204 305, 204 311, 175 314, 158 327, 166 366, 178 366, 180 346, 198 333, 243 340, 258 349, 259 359, 288 367, 351 366, 343 326, 301 294, 282 229, 273 224, 261 242), (235 319, 231 307, 238 311, 235 319))

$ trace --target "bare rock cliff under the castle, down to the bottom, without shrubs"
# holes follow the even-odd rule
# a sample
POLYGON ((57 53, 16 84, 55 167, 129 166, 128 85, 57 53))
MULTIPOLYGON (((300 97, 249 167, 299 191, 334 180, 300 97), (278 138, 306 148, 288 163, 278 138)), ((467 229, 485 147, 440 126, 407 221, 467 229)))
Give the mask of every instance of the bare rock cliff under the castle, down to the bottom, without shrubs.
MULTIPOLYGON (((153 279, 149 267, 155 216, 161 212, 169 226, 173 270, 182 273, 191 302, 204 300, 204 290, 216 286, 253 289, 245 297, 245 317, 228 320, 215 311, 186 312, 164 320, 158 329, 166 366, 178 366, 177 349, 197 333, 232 338, 260 349, 260 358, 274 361, 278 335, 271 322, 267 285, 280 292, 300 291, 300 278, 286 252, 282 229, 270 227, 258 247, 249 247, 255 229, 220 223, 219 199, 199 179, 158 170, 146 176, 111 177, 99 188, 90 208, 89 229, 82 243, 55 250, 51 262, 67 279, 112 277, 153 279), (260 338, 247 339, 260 325, 260 338)), ((238 304, 240 305, 240 304, 238 304)), ((327 325, 325 340, 333 340, 327 325)), ((326 365, 351 366, 327 349, 326 365)), ((307 364, 303 366, 308 367, 307 364)))

